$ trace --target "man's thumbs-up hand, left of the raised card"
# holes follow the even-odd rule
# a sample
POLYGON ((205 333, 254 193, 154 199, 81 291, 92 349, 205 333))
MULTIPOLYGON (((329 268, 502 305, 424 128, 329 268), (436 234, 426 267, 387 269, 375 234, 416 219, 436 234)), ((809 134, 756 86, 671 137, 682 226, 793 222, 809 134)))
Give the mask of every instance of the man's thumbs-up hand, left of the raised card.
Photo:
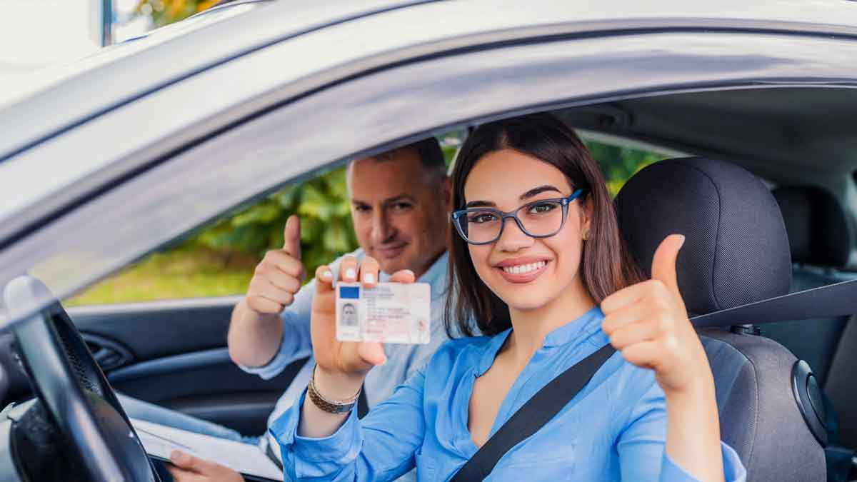
POLYGON ((247 306, 261 315, 278 314, 294 301, 303 276, 301 222, 292 215, 285 221, 283 249, 268 251, 256 265, 247 306))

